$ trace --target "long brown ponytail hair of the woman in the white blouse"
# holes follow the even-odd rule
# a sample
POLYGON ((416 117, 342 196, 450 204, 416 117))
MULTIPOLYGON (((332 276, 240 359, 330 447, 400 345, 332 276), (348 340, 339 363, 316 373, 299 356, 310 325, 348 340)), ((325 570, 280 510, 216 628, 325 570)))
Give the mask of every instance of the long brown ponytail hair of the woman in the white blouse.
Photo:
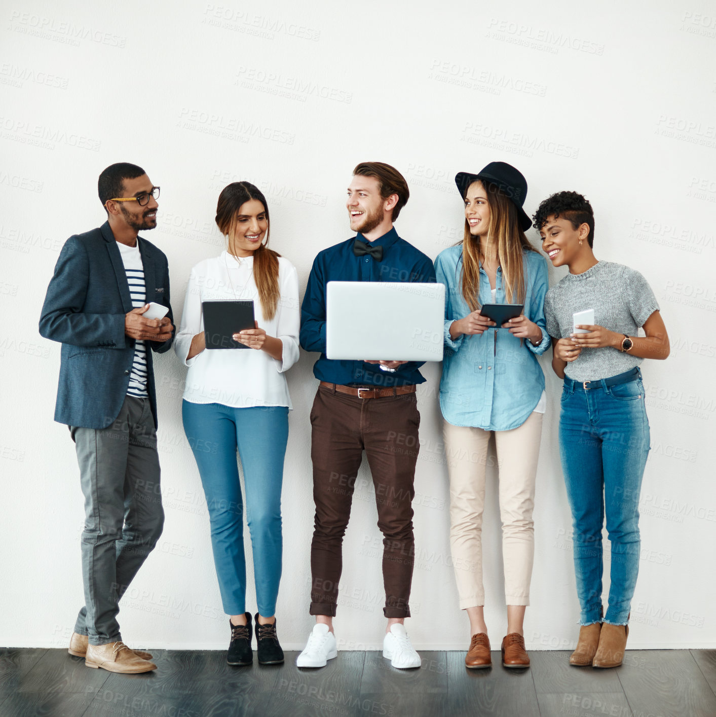
POLYGON ((278 257, 281 255, 267 247, 271 222, 269 221, 269 207, 262 191, 247 181, 235 181, 228 184, 219 194, 219 203, 216 204, 216 226, 221 234, 231 237, 236 226, 237 215, 242 205, 251 199, 257 199, 264 205, 266 214, 266 239, 254 251, 254 280, 259 290, 261 311, 264 319, 272 319, 276 315, 276 308, 281 298, 278 285, 278 257))

